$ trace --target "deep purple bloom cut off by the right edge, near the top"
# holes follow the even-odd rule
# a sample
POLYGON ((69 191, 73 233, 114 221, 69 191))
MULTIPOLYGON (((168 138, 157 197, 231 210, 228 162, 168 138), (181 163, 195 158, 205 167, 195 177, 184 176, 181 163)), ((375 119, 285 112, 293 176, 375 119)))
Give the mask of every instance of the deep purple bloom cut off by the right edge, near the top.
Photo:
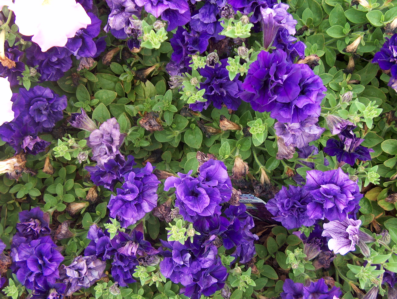
POLYGON ((397 33, 395 33, 390 39, 386 38, 385 43, 379 52, 376 52, 372 63, 378 63, 380 69, 384 71, 390 70, 390 81, 389 86, 396 89, 393 85, 397 78, 397 33))

